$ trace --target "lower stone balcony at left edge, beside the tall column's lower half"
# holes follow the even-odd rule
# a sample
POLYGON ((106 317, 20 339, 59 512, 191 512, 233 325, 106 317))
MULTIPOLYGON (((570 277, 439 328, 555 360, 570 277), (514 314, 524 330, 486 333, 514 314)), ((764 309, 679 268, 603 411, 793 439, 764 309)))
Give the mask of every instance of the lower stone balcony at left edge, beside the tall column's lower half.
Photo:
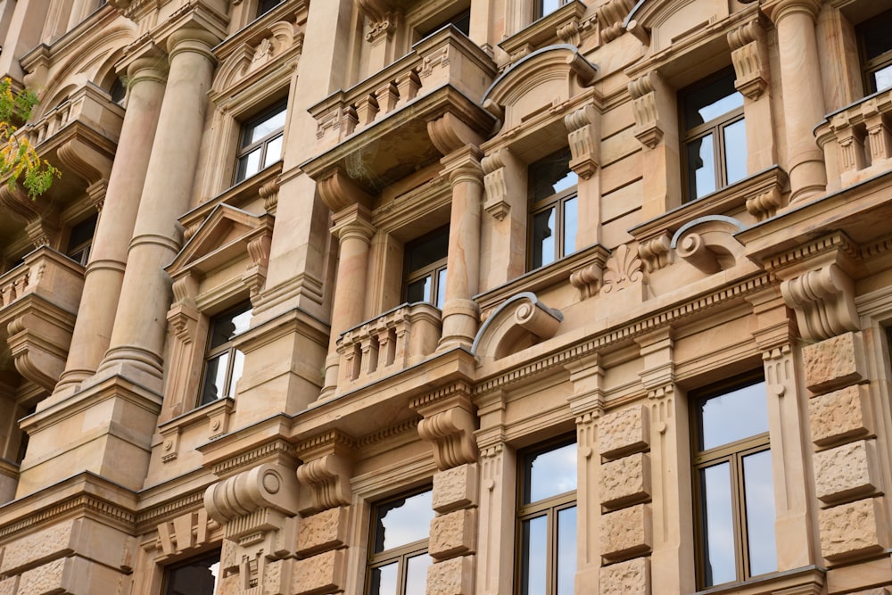
POLYGON ((42 247, 0 277, 0 359, 47 392, 65 368, 84 288, 84 268, 42 247))

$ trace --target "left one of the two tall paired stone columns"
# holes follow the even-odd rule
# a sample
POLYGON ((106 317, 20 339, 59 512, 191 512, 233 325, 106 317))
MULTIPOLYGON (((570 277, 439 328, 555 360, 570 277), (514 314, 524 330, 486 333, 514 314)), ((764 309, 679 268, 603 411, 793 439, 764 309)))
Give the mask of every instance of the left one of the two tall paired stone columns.
POLYGON ((127 112, 111 167, 103 216, 96 227, 84 276, 84 292, 71 338, 72 349, 56 385, 54 400, 77 390, 83 380, 93 375, 108 349, 118 310, 128 244, 145 183, 166 74, 161 69, 161 56, 157 54, 136 59, 127 72, 130 80, 127 112))

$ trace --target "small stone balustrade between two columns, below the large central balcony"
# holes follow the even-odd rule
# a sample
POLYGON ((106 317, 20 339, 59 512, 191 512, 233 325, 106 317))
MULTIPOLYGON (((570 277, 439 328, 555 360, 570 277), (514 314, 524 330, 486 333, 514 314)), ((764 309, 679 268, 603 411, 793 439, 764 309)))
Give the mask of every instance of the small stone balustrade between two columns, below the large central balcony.
POLYGON ((437 348, 440 310, 426 302, 403 304, 341 335, 338 393, 423 361, 437 348))

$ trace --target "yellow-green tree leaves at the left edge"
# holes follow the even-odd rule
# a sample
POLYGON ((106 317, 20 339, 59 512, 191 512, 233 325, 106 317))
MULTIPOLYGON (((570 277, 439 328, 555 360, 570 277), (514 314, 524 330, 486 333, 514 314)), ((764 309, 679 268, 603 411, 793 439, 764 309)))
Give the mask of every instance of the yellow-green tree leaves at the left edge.
POLYGON ((27 138, 15 134, 18 129, 15 122, 28 120, 35 105, 37 95, 33 91, 15 91, 12 80, 0 81, 0 179, 6 178, 11 188, 16 182, 21 183, 32 199, 45 193, 53 178, 61 175, 58 169, 40 159, 27 138))

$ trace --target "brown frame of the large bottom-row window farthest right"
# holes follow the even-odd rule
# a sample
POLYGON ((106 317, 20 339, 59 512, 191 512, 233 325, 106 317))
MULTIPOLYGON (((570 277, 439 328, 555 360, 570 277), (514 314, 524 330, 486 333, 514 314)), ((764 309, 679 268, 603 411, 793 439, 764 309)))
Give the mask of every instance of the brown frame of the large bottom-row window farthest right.
MULTIPOLYGON (((746 480, 743 472, 743 459, 760 452, 768 452, 771 455, 770 428, 763 433, 753 434, 734 442, 720 444, 714 448, 701 450, 700 440, 703 434, 703 420, 699 415, 699 404, 725 394, 745 389, 750 386, 763 384, 767 386, 764 371, 753 370, 741 376, 735 376, 719 384, 711 384, 704 389, 689 393, 690 406, 690 464, 692 482, 692 501, 694 505, 694 554, 695 574, 698 590, 712 589, 722 585, 748 581, 765 574, 750 574, 751 541, 747 530, 747 503, 746 480), (704 483, 701 479, 701 471, 710 467, 717 467, 728 463, 729 479, 731 481, 731 515, 734 535, 734 572, 735 578, 724 583, 709 583, 706 580, 706 499, 704 496, 704 483)), ((768 415, 768 393, 764 391, 765 415, 768 415)), ((772 466, 773 471, 773 466, 772 466)), ((772 477, 772 492, 773 492, 772 477)), ((774 511, 777 518, 777 512, 774 511)), ((773 531, 773 527, 772 527, 773 531)), ((775 536, 775 548, 777 544, 775 536)), ((776 559, 775 550, 775 559, 776 559)), ((776 570, 776 568, 775 568, 776 570)))

